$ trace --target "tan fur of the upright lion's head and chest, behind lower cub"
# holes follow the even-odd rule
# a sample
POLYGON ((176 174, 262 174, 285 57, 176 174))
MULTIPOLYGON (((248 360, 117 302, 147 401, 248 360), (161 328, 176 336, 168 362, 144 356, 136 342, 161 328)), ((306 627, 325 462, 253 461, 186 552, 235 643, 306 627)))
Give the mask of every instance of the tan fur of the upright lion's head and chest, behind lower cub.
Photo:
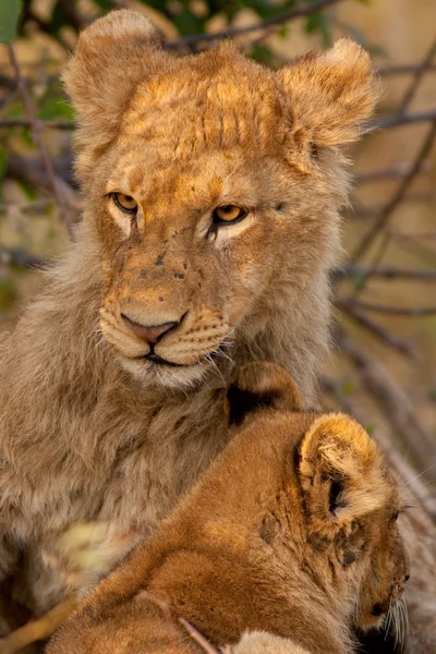
POLYGON ((313 402, 347 201, 339 146, 376 93, 352 41, 274 73, 231 44, 177 59, 129 11, 85 29, 65 83, 86 210, 0 356, 0 578, 24 577, 36 614, 64 595, 59 534, 89 520, 150 534, 225 447, 234 364, 279 362, 313 402), (136 219, 112 192, 132 194, 136 219), (249 215, 215 231, 220 203, 249 215), (183 365, 143 359, 122 312, 183 317, 156 347, 183 365))

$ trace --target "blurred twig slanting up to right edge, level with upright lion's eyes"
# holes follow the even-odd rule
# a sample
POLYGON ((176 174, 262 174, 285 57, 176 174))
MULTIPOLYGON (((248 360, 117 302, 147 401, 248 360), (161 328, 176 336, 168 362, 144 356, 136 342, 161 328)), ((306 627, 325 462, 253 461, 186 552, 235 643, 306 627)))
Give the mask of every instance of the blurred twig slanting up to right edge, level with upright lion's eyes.
POLYGON ((390 216, 392 215, 392 213, 396 210, 398 205, 403 199, 409 186, 415 179, 415 177, 422 166, 422 162, 428 156, 428 154, 433 147, 435 137, 436 137, 436 120, 432 123, 432 126, 424 138, 424 142, 415 157, 415 160, 413 162, 412 168, 409 171, 409 174, 402 180, 402 182, 399 185, 399 187, 397 189, 393 197, 383 209, 383 211, 378 216, 377 220, 372 226, 371 230, 367 232, 367 234, 363 238, 363 240, 360 242, 360 244, 353 252, 353 254, 351 256, 351 263, 355 263, 359 258, 361 258, 366 253, 368 247, 372 245, 374 239, 384 229, 384 227, 386 226, 390 216))

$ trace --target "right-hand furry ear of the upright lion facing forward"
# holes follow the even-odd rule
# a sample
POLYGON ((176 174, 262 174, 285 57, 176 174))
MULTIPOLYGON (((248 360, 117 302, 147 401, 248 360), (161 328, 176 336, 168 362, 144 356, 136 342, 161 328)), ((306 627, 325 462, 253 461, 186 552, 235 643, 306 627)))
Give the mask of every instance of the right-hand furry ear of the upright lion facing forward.
POLYGON ((339 39, 325 52, 308 52, 277 73, 289 98, 292 159, 317 148, 336 147, 360 137, 379 95, 368 53, 351 39, 339 39))

